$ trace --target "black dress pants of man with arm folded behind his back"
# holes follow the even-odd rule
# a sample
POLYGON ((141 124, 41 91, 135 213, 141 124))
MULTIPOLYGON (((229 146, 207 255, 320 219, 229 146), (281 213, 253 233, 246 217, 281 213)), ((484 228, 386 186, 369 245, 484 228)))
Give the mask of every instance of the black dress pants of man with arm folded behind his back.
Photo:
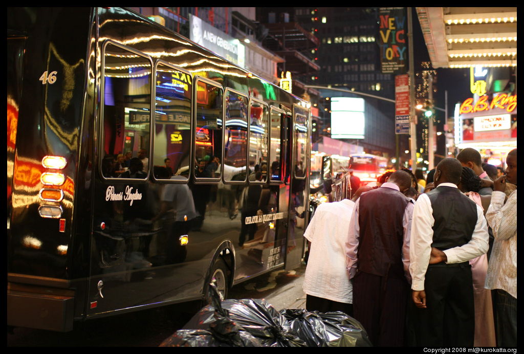
POLYGON ((410 323, 418 347, 473 347, 475 309, 468 262, 431 264, 425 274, 427 308, 413 306, 410 323))

